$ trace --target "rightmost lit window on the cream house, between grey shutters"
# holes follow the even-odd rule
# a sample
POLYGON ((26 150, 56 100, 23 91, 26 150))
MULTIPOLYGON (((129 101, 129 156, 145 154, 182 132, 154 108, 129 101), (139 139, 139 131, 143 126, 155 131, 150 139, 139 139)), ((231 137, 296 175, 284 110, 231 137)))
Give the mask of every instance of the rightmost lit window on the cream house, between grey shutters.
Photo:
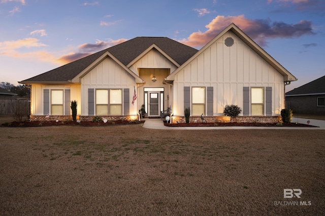
POLYGON ((251 115, 264 115, 264 88, 251 88, 251 115))

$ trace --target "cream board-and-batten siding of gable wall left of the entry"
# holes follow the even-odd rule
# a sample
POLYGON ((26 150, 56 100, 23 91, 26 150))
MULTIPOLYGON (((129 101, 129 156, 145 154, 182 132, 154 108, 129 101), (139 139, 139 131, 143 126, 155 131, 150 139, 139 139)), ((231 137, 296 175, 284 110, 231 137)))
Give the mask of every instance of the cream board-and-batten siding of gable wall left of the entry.
POLYGON ((132 105, 134 86, 137 87, 134 77, 110 57, 104 59, 81 78, 81 115, 88 116, 88 89, 122 89, 122 94, 129 89, 129 115, 136 115, 137 105, 132 105))

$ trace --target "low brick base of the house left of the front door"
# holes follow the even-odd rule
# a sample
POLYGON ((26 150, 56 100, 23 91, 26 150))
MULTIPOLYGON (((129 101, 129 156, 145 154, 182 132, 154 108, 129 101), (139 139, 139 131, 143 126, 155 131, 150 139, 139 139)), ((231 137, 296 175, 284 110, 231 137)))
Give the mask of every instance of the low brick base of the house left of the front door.
MULTIPOLYGON (((79 119, 80 121, 92 121, 92 119, 95 116, 78 116, 77 115, 77 120, 79 119)), ((137 120, 138 116, 101 116, 102 118, 107 119, 108 121, 116 121, 116 120, 125 120, 125 121, 133 121, 137 120)), ((30 121, 72 121, 72 116, 29 116, 30 121)))

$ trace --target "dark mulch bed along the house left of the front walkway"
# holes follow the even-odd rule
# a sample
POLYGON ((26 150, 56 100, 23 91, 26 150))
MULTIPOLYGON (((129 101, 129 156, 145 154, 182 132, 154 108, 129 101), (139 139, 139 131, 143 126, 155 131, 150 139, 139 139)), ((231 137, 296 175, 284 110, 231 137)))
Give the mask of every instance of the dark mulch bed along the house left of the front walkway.
POLYGON ((81 125, 81 126, 112 126, 112 125, 130 125, 143 124, 145 121, 108 121, 104 122, 90 122, 81 121, 80 123, 74 121, 25 121, 25 122, 11 122, 5 123, 3 127, 43 127, 43 126, 60 126, 60 125, 81 125))

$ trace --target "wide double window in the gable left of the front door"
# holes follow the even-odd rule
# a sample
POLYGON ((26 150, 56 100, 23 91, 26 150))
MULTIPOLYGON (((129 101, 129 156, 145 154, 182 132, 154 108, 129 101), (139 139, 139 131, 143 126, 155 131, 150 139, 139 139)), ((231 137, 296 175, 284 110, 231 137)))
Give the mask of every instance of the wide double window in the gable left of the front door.
POLYGON ((96 89, 96 115, 122 115, 122 89, 96 89))

